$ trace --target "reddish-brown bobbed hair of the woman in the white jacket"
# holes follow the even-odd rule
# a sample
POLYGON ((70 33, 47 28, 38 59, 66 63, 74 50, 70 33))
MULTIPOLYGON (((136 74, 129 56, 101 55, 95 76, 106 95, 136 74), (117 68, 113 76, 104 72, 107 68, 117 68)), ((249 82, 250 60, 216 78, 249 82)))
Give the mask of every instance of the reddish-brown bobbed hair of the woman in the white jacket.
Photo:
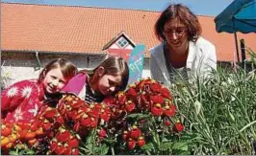
POLYGON ((155 34, 160 41, 166 40, 164 34, 164 27, 166 22, 172 19, 177 19, 178 22, 183 24, 187 29, 188 39, 195 42, 199 35, 202 33, 202 29, 198 18, 190 9, 182 4, 169 5, 165 11, 163 11, 155 24, 155 34))

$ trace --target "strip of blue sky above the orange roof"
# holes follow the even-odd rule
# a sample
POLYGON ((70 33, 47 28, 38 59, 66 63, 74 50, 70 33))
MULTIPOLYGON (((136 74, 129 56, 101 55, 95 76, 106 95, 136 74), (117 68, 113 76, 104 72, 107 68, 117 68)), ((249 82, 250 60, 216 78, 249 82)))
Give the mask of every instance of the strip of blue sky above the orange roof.
POLYGON ((90 6, 118 9, 163 11, 170 3, 182 3, 197 15, 217 16, 233 0, 2 0, 50 5, 90 6))

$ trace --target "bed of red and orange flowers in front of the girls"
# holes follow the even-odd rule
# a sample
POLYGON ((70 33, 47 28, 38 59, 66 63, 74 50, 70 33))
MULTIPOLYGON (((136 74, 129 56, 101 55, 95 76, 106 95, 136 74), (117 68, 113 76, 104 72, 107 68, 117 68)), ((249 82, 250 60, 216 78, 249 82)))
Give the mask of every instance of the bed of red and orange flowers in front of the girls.
POLYGON ((168 89, 143 79, 101 103, 64 95, 32 123, 2 121, 6 154, 169 154, 184 125, 168 89))

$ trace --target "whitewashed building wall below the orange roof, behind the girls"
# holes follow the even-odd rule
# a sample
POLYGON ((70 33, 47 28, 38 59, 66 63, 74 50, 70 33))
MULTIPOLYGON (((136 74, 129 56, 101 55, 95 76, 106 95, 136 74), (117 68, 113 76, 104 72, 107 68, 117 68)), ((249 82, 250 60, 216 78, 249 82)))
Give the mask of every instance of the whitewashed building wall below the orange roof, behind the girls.
MULTIPOLYGON (((5 52, 6 53, 6 52, 5 52)), ((42 66, 45 66, 52 59, 64 57, 75 65, 77 65, 79 70, 85 68, 94 68, 97 66, 105 56, 90 56, 90 55, 52 55, 52 54, 39 54, 39 60, 42 66)), ((1 67, 1 78, 6 78, 8 85, 14 82, 38 78, 38 75, 42 68, 39 68, 38 60, 35 54, 19 54, 14 52, 8 52, 1 57, 2 67, 1 67), (3 64, 4 62, 4 64, 3 64)), ((150 77, 149 71, 149 60, 144 59, 144 69, 142 71, 142 78, 150 77)))

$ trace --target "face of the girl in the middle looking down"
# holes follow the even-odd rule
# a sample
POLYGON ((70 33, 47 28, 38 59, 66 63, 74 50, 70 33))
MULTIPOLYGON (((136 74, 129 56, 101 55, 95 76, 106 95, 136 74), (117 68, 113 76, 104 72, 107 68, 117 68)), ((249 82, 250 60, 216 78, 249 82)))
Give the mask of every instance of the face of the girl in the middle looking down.
POLYGON ((103 75, 98 80, 98 91, 104 96, 110 96, 114 92, 119 91, 119 86, 121 85, 121 76, 103 75))

